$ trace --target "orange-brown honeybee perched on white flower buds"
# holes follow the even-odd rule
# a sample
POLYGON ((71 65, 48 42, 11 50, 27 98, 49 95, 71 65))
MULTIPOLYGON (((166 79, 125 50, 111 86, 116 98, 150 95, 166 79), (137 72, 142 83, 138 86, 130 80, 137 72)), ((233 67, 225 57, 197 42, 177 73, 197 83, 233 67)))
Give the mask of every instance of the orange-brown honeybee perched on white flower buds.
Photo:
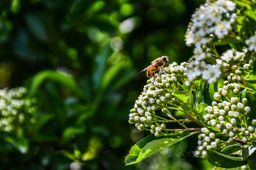
POLYGON ((146 67, 145 69, 143 69, 142 71, 147 70, 147 77, 150 78, 150 77, 154 76, 154 80, 156 80, 156 71, 159 69, 163 69, 164 64, 166 64, 168 66, 169 65, 168 62, 169 62, 168 56, 158 57, 157 59, 154 59, 151 62, 151 64, 148 67, 146 67))

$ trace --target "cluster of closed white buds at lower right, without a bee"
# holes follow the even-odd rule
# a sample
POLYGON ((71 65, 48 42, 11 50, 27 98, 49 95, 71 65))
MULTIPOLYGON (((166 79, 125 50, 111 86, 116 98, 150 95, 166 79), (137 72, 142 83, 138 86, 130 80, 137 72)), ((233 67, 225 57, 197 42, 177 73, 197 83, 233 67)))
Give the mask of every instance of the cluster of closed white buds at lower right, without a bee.
POLYGON ((247 124, 247 114, 251 108, 246 106, 247 99, 240 96, 241 86, 224 82, 223 88, 215 92, 212 106, 205 108, 204 120, 207 127, 198 135, 196 155, 205 157, 208 150, 223 148, 229 143, 253 143, 255 140, 256 120, 247 124), (223 138, 223 136, 225 138, 223 138))

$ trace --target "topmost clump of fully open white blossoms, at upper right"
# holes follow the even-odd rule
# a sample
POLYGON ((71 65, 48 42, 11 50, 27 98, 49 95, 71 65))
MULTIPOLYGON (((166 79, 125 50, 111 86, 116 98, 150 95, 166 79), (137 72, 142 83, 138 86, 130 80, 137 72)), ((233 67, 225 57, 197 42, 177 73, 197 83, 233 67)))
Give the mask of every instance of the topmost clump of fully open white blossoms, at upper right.
POLYGON ((229 0, 208 0, 201 5, 192 15, 186 32, 186 45, 195 45, 201 48, 212 41, 216 36, 218 39, 227 36, 236 21, 236 4, 229 0))

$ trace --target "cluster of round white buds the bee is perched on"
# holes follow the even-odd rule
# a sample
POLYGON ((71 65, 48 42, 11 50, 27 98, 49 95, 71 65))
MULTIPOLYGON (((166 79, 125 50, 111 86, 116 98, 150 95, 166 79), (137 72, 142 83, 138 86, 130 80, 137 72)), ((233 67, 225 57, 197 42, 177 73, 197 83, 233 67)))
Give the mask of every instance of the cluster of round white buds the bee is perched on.
POLYGON ((130 111, 130 124, 135 124, 140 131, 148 130, 155 136, 166 133, 165 122, 157 117, 156 111, 161 110, 163 113, 168 113, 167 104, 172 106, 176 103, 172 92, 180 89, 180 82, 186 81, 187 65, 187 62, 182 62, 180 66, 173 62, 156 74, 156 81, 153 77, 147 81, 134 108, 130 111))

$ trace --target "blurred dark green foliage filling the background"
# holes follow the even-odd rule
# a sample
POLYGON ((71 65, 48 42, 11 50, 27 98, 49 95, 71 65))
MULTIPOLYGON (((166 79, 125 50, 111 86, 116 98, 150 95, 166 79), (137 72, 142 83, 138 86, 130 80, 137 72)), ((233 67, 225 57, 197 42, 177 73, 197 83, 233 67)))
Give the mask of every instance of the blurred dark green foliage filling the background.
MULTIPOLYGON (((38 100, 33 131, 12 143, 1 132, 1 169, 69 169, 73 161, 82 169, 144 169, 144 163, 124 167, 125 155, 145 135, 127 122, 147 80, 140 71, 161 55, 188 60, 184 34, 201 3, 1 1, 0 87, 27 87, 38 100), (21 153, 15 143, 24 141, 28 152, 21 153)), ((186 163, 180 169, 203 168, 186 152, 176 159, 164 168, 179 169, 180 162, 186 163)))

